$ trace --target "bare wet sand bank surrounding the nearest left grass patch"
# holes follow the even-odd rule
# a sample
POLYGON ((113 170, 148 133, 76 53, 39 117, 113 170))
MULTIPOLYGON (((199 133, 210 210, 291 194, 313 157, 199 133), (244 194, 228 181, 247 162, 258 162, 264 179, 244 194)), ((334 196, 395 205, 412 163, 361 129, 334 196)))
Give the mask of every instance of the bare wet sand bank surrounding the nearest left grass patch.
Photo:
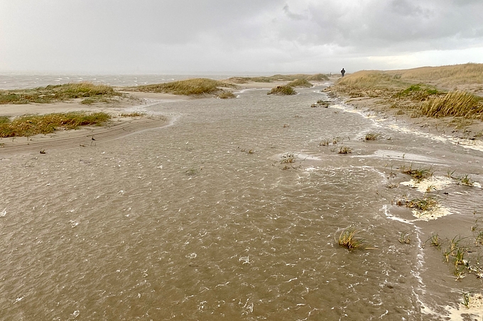
POLYGON ((108 140, 114 140, 131 133, 168 124, 163 116, 121 117, 121 113, 130 113, 139 106, 156 101, 178 101, 189 99, 171 94, 129 93, 129 98, 122 98, 110 103, 82 105, 80 100, 45 104, 0 105, 2 116, 22 116, 26 114, 67 113, 71 111, 92 111, 109 113, 112 120, 102 126, 83 126, 77 130, 56 130, 46 135, 32 137, 0 138, 0 157, 9 154, 31 154, 53 149, 69 149, 97 146, 108 140), (94 138, 94 140, 92 140, 94 138))

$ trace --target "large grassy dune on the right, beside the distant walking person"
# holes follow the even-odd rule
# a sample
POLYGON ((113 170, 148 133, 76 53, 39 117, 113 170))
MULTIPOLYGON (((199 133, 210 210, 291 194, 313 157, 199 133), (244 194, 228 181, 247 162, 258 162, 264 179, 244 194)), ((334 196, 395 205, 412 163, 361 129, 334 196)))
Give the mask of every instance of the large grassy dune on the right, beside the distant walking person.
POLYGON ((379 98, 416 117, 483 119, 483 64, 355 72, 337 81, 335 91, 379 98))

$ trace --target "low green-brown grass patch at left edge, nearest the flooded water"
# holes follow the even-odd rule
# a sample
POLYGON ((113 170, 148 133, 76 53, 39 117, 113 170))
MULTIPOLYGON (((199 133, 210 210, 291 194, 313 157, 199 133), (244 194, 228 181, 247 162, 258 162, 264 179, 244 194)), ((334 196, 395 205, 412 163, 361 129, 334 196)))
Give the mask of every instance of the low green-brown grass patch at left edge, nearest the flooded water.
POLYGON ((101 125, 109 120, 108 113, 50 113, 26 115, 0 123, 0 137, 25 137, 53 133, 58 128, 75 129, 83 125, 101 125))

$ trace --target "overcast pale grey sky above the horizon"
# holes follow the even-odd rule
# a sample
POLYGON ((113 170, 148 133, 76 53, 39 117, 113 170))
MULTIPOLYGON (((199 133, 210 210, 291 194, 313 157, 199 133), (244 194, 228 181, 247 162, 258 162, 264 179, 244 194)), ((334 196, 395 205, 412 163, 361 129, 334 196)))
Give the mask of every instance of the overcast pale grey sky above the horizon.
POLYGON ((483 0, 0 0, 0 70, 292 73, 483 62, 483 0))

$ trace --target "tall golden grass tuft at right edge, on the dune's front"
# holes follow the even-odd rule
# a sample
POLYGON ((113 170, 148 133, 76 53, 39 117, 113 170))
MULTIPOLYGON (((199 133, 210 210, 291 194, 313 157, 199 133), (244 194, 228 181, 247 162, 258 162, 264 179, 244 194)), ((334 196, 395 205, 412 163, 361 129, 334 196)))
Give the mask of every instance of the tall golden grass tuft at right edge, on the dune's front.
POLYGON ((465 91, 451 91, 445 96, 433 98, 423 103, 420 113, 424 116, 482 118, 482 98, 465 91))

